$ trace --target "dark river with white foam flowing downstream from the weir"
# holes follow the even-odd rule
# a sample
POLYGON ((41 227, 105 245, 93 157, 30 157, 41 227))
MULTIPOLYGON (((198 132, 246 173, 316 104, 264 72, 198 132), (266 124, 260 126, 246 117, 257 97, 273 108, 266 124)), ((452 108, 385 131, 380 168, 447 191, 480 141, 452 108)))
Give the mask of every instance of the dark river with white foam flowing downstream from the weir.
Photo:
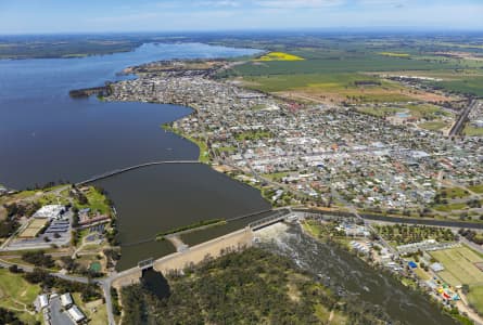
POLYGON ((298 225, 277 224, 260 231, 259 246, 291 258, 334 292, 357 296, 381 306, 403 324, 456 324, 422 295, 404 287, 389 274, 374 271, 334 244, 320 243, 298 225))

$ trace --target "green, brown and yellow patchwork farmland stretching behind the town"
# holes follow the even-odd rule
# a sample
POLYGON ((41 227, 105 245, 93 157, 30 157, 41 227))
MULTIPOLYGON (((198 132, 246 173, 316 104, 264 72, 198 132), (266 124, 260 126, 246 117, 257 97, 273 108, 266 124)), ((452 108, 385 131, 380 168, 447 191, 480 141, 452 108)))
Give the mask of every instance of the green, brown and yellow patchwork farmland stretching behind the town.
MULTIPOLYGON (((402 46, 401 39, 323 39, 314 36, 258 40, 245 46, 272 52, 225 70, 219 77, 239 79, 249 88, 301 102, 360 104, 452 100, 387 82, 384 76, 390 74, 437 75, 437 80, 424 83, 455 94, 483 94, 483 61, 473 58, 481 49, 461 48, 449 40, 409 38, 402 46), (287 53, 304 60, 289 60, 289 56, 284 60, 287 53), (373 82, 357 86, 354 81, 373 82)), ((427 129, 443 127, 433 123, 427 129)))

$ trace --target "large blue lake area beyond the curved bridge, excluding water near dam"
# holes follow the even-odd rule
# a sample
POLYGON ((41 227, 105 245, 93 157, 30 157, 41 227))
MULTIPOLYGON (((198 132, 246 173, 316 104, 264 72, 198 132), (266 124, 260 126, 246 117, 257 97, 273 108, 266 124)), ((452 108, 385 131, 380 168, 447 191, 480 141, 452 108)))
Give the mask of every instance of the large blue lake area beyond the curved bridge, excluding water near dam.
POLYGON ((102 86, 141 63, 227 57, 255 50, 199 43, 144 44, 84 58, 0 61, 0 184, 14 188, 80 181, 151 160, 192 159, 198 147, 160 129, 190 108, 72 100, 72 89, 102 86))

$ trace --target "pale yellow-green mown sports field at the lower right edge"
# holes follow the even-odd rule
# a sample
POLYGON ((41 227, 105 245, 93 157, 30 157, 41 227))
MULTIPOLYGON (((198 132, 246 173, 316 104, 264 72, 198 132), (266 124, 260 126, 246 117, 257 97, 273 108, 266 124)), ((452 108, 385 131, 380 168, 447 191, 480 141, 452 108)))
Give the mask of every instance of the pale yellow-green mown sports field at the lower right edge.
POLYGON ((471 287, 483 284, 483 272, 475 265, 483 264, 483 258, 470 248, 462 246, 436 250, 431 256, 444 265, 445 270, 437 274, 449 285, 467 284, 471 287))

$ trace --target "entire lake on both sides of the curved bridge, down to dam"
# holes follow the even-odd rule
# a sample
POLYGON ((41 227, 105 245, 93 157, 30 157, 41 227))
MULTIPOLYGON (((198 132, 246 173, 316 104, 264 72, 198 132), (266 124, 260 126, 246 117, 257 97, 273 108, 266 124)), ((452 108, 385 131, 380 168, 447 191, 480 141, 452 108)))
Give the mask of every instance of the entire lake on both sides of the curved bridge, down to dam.
MULTIPOLYGON (((195 160, 196 145, 161 129, 191 108, 73 100, 68 91, 126 78, 116 74, 141 63, 255 52, 199 43, 144 44, 105 56, 0 61, 0 184, 25 188, 59 180, 78 182, 154 160, 195 160)), ((202 219, 229 219, 269 208, 257 191, 202 165, 150 167, 98 184, 116 204, 123 244, 202 219)), ((200 238, 211 234, 217 232, 200 238)), ((167 242, 125 247, 118 266, 130 268, 173 250, 167 242)))

